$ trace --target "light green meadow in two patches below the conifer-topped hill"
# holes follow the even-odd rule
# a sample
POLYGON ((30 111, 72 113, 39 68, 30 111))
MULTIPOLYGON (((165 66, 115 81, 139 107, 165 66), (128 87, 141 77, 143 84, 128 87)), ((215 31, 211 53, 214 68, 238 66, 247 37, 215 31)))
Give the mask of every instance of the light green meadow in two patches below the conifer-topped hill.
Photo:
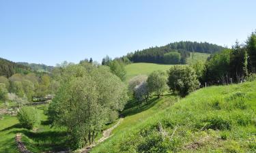
MULTIPOLYGON (((210 56, 210 54, 205 53, 194 53, 194 62, 195 61, 203 61, 205 62, 206 59, 210 56)), ((187 64, 192 64, 192 53, 190 54, 190 57, 187 59, 187 64)), ((161 64, 155 64, 155 63, 132 63, 130 65, 126 65, 126 82, 128 82, 131 78, 134 76, 144 74, 149 75, 152 73, 152 71, 161 70, 161 71, 167 71, 172 67, 173 65, 161 65, 161 64)))

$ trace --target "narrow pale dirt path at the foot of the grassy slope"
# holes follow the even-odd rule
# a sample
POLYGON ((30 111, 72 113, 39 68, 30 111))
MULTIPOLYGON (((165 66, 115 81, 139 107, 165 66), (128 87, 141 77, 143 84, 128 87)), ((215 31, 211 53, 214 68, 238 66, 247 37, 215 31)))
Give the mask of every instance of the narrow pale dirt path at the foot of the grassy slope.
POLYGON ((113 131, 113 129, 115 129, 123 120, 124 120, 124 118, 120 118, 118 120, 117 124, 115 124, 114 126, 112 126, 109 129, 106 129, 106 130, 103 131, 103 133, 102 133, 103 136, 98 141, 96 141, 96 142, 92 143, 91 145, 79 150, 79 152, 80 153, 88 153, 91 150, 91 148, 94 148, 96 145, 98 145, 98 143, 101 143, 101 142, 105 141, 106 139, 108 139, 109 137, 111 137, 112 136, 111 132, 113 131))

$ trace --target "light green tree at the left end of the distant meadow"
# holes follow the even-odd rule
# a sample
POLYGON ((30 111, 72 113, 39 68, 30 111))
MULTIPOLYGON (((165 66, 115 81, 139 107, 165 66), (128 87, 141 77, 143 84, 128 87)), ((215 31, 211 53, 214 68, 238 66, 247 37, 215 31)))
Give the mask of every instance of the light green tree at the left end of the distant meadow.
POLYGON ((113 74, 117 75, 122 81, 126 80, 126 69, 122 61, 114 60, 109 64, 113 74))

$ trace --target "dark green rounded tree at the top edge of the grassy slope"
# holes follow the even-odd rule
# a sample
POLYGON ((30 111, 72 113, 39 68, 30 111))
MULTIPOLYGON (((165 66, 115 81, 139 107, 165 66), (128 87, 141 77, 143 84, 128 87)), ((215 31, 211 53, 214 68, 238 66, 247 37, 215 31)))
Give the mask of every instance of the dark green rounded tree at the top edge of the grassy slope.
POLYGON ((174 66, 169 69, 168 86, 182 97, 196 90, 199 86, 195 70, 189 66, 174 66))

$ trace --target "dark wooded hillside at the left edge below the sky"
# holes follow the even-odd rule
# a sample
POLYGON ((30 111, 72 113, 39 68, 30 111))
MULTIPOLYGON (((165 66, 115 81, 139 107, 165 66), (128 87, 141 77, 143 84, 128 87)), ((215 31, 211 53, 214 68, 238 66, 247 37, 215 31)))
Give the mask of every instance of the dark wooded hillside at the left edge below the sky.
POLYGON ((0 58, 0 75, 9 78, 14 73, 29 73, 29 71, 31 71, 30 67, 0 58))

